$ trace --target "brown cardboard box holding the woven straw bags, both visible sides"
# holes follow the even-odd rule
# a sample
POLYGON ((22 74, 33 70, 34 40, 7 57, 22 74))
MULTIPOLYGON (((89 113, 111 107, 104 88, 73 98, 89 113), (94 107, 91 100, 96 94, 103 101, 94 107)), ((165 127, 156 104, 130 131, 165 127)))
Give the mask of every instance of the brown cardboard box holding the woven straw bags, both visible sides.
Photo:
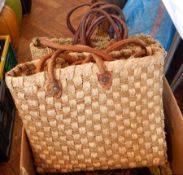
MULTIPOLYGON (((174 175, 183 175, 183 117, 174 95, 164 80, 164 110, 168 136, 168 152, 174 175)), ((25 130, 22 130, 21 175, 36 175, 33 157, 25 130)))

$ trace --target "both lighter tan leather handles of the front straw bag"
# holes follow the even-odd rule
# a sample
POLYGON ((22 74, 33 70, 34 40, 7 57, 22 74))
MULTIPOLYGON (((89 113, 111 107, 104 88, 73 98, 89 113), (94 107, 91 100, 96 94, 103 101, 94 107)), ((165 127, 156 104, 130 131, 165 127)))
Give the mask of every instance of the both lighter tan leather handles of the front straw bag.
MULTIPOLYGON (((55 65, 56 58, 60 54, 62 54, 64 51, 89 52, 91 55, 87 57, 84 61, 76 62, 74 59, 67 60, 67 61, 70 61, 71 64, 84 64, 84 63, 90 62, 91 60, 95 61, 100 72, 99 74, 97 74, 98 81, 104 89, 109 89, 112 85, 112 73, 106 70, 106 67, 104 64, 104 60, 107 60, 107 61, 113 60, 113 58, 109 55, 110 52, 116 49, 119 49, 119 47, 125 46, 127 44, 135 44, 142 48, 142 51, 135 53, 134 55, 135 57, 139 55, 144 56, 148 54, 148 50, 145 46, 145 43, 140 39, 134 39, 134 38, 124 39, 118 42, 114 42, 113 44, 108 46, 105 52, 88 47, 88 46, 84 46, 84 45, 59 45, 45 38, 41 38, 39 42, 43 46, 56 49, 56 51, 53 54, 48 54, 47 56, 44 56, 42 59, 40 59, 39 63, 36 66, 36 70, 37 72, 39 72, 42 70, 43 65, 48 60, 48 83, 47 83, 46 89, 51 95, 55 97, 60 97, 61 85, 55 78, 54 65, 55 65)), ((63 55, 63 58, 64 58, 64 55, 63 55)))

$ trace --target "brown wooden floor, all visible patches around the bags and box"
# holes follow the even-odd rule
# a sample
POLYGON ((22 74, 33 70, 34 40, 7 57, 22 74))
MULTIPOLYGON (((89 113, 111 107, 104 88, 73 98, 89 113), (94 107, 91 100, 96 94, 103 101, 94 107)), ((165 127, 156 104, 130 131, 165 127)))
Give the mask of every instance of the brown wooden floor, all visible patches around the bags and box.
MULTIPOLYGON (((19 62, 31 59, 29 43, 35 36, 68 37, 72 36, 67 30, 65 17, 68 10, 79 2, 89 0, 33 0, 32 12, 23 18, 21 26, 21 37, 17 57, 19 62)), ((83 11, 74 15, 74 23, 77 24, 83 11)), ((181 92, 181 90, 179 90, 181 92)), ((179 99, 180 92, 176 92, 179 99)), ((182 95, 181 95, 182 97, 182 95)), ((183 107, 183 99, 180 102, 183 107)), ((18 175, 20 161, 22 123, 16 115, 13 133, 13 144, 10 161, 0 165, 0 175, 18 175)))

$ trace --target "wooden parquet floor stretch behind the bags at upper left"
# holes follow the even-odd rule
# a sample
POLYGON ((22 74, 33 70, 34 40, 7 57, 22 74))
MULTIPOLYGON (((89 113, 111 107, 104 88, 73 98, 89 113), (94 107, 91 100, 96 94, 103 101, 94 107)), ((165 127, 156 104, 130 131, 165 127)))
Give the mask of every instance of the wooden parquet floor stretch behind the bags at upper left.
MULTIPOLYGON (((30 59, 29 43, 35 36, 71 37, 66 26, 66 15, 71 7, 83 2, 89 0, 33 0, 32 12, 24 17, 21 27, 18 50, 20 62, 30 59)), ((74 14, 74 24, 78 23, 84 10, 74 14)))

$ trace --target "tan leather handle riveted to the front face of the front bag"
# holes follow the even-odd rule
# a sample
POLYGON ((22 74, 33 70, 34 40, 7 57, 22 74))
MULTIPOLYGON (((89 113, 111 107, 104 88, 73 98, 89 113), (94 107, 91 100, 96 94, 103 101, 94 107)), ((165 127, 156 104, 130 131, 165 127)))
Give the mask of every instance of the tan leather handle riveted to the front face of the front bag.
MULTIPOLYGON (((112 57, 106 54, 105 52, 98 51, 94 48, 83 46, 83 45, 59 45, 46 40, 45 38, 40 39, 39 41, 42 45, 57 49, 53 54, 48 54, 42 57, 39 63, 36 65, 36 72, 40 72, 48 60, 48 82, 46 85, 46 90, 49 94, 54 97, 59 98, 62 94, 62 88, 54 74, 54 67, 56 58, 63 53, 64 51, 74 51, 74 52, 89 52, 92 56, 92 59, 96 62, 99 68, 98 81, 104 89, 109 89, 112 85, 112 74, 107 71, 104 65, 104 60, 112 60, 112 57)), ((83 63, 89 62, 91 60, 91 56, 86 58, 83 63)), ((71 60, 69 60, 71 62, 71 60)), ((73 60, 73 63, 75 61, 73 60)))

